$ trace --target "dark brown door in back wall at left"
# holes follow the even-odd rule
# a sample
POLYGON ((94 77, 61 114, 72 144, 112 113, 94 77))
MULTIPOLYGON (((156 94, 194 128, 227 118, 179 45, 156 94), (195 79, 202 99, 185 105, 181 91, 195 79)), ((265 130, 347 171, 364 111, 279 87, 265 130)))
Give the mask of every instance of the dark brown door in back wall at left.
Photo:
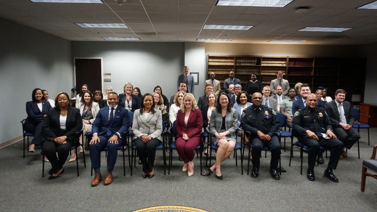
POLYGON ((75 58, 76 94, 81 85, 87 84, 89 91, 102 91, 102 59, 75 58))

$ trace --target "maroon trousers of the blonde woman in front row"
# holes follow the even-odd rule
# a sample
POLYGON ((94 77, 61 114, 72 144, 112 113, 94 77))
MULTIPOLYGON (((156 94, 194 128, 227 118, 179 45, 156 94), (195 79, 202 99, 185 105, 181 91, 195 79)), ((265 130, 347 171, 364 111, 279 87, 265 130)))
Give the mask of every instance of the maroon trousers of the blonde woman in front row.
POLYGON ((189 163, 195 157, 195 148, 200 143, 200 137, 193 137, 189 140, 184 140, 182 137, 177 138, 176 148, 179 157, 182 158, 183 162, 189 163))

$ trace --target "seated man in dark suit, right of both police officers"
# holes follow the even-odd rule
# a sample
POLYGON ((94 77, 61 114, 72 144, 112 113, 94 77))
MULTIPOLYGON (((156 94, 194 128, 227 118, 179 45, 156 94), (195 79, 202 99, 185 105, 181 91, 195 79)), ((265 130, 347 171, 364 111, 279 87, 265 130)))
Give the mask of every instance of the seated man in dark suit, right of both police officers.
MULTIPOLYGON (((326 103, 326 112, 333 124, 335 135, 343 142, 345 148, 351 149, 353 144, 360 139, 360 134, 356 128, 352 128, 355 119, 351 112, 351 104, 344 101, 345 98, 346 91, 338 89, 335 92, 335 100, 326 103)), ((342 157, 348 157, 344 149, 340 158, 342 157)))

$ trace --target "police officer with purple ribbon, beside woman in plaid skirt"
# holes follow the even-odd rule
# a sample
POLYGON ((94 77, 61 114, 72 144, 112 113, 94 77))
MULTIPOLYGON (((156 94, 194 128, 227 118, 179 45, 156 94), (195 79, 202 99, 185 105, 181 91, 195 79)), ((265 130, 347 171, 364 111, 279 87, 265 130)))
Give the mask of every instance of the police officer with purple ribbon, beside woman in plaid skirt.
POLYGON ((279 138, 276 136, 280 124, 279 120, 273 109, 262 105, 261 93, 254 93, 251 102, 253 105, 244 109, 241 115, 241 126, 245 131, 250 132, 252 144, 253 171, 251 171, 251 177, 258 177, 261 151, 263 147, 268 146, 271 150, 271 177, 280 180, 279 173, 277 173, 277 164, 279 163, 281 147, 279 138))

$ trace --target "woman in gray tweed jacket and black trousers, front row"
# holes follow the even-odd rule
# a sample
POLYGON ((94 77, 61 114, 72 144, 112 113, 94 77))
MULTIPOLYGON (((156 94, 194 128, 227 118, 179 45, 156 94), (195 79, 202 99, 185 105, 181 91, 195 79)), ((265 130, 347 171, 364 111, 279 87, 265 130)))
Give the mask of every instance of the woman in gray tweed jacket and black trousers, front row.
POLYGON ((133 143, 143 164, 143 178, 155 175, 156 147, 161 143, 162 114, 155 110, 152 94, 144 94, 140 109, 133 115, 133 143))

